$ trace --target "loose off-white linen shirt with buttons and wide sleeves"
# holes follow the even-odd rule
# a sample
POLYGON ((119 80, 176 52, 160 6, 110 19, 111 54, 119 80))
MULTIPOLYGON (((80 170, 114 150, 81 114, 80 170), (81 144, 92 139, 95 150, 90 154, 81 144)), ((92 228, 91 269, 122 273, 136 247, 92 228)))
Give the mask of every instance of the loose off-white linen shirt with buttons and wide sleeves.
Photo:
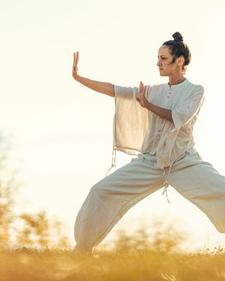
MULTIPOLYGON (((130 155, 156 153, 157 167, 163 169, 165 174, 164 167, 171 169, 182 153, 195 146, 193 126, 204 101, 204 88, 189 82, 187 78, 177 85, 147 85, 147 100, 172 110, 173 122, 137 102, 139 87, 114 85, 114 89, 113 151, 130 155)), ((165 184, 168 186, 168 181, 165 184)))

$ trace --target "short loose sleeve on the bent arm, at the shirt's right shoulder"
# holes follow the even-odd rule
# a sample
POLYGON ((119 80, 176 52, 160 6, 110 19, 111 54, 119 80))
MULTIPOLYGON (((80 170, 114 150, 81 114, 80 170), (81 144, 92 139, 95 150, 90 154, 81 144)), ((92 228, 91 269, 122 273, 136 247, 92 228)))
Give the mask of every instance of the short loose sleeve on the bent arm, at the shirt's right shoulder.
POLYGON ((188 123, 194 116, 197 117, 204 101, 204 88, 197 85, 191 95, 180 106, 172 110, 172 119, 175 130, 188 123))

